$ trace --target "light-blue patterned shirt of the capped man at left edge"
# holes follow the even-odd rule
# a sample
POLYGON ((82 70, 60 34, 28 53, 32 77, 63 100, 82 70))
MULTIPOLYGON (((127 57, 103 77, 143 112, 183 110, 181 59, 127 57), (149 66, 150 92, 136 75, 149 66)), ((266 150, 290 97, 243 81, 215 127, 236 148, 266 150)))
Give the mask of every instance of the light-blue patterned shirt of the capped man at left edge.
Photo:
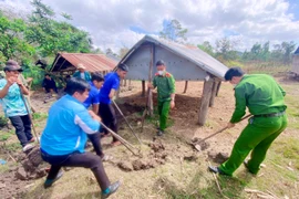
MULTIPOLYGON (((7 83, 8 81, 6 78, 0 80, 0 90, 3 90, 7 83)), ((8 94, 0 100, 7 117, 23 116, 28 114, 20 92, 19 85, 14 83, 9 87, 8 94)))

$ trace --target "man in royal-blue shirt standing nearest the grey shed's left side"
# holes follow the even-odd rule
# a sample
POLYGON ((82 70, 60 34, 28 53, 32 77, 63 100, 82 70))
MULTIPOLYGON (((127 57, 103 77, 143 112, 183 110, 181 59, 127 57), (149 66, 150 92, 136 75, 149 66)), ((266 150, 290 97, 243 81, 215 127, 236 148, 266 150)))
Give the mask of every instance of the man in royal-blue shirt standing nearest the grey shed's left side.
MULTIPOLYGON (((100 116, 103 119, 105 126, 111 128, 117 134, 117 121, 115 109, 112 105, 113 97, 116 91, 120 88, 121 78, 124 78, 128 71, 127 65, 120 64, 116 72, 107 73, 104 77, 104 84, 100 91, 100 116)), ((103 133, 107 135, 107 130, 103 129, 103 133)), ((113 137, 112 146, 120 145, 120 140, 113 137)))

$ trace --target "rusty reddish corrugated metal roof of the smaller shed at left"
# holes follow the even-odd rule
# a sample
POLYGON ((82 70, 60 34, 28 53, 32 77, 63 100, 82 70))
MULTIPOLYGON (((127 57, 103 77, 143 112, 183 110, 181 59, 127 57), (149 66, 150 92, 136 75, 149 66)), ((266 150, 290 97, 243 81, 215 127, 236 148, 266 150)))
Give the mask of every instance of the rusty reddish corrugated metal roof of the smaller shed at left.
MULTIPOLYGON (((52 72, 58 72, 62 69, 62 65, 58 65, 60 59, 64 59, 70 62, 72 65, 76 67, 79 63, 82 63, 86 71, 95 72, 95 71, 112 71, 116 65, 117 61, 111 57, 107 57, 105 54, 89 54, 89 53, 58 53, 52 69, 52 72)), ((70 66, 68 66, 70 67, 70 66)))

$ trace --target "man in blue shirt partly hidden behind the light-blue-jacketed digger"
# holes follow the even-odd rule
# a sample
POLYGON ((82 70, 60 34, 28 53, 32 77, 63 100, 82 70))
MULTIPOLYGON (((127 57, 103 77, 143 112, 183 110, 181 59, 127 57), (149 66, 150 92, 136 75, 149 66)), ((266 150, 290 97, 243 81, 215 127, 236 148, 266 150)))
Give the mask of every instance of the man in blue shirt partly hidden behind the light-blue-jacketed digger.
MULTIPOLYGON (((95 72, 92 74, 92 81, 90 82, 90 86, 91 86, 90 94, 89 94, 89 97, 83 102, 83 105, 85 106, 85 108, 89 108, 90 106, 92 106, 92 111, 94 114, 99 113, 99 104, 100 104, 99 94, 100 94, 100 90, 103 83, 104 83, 104 77, 101 73, 95 72)), ((102 160, 109 160, 110 157, 107 155, 104 155, 104 153, 102 151, 101 135, 89 134, 87 136, 92 143, 92 146, 96 155, 100 156, 102 160)))

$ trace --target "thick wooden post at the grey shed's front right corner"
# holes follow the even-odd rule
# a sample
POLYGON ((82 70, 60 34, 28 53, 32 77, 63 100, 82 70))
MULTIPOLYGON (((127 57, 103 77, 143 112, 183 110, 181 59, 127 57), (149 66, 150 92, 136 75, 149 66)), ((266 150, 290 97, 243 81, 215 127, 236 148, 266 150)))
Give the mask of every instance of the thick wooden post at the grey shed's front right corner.
POLYGON ((203 126, 206 123, 212 90, 213 90, 213 80, 208 77, 208 80, 205 80, 203 95, 199 105, 198 124, 200 126, 203 126))

